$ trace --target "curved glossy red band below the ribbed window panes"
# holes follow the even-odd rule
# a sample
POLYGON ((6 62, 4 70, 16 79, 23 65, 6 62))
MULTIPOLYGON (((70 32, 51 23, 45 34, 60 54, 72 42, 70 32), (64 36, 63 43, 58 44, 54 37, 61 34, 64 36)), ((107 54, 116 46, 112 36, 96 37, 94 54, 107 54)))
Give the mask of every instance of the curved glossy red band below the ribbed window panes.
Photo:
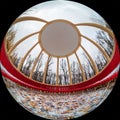
POLYGON ((38 90, 48 91, 48 92, 73 92, 73 91, 80 91, 87 88, 91 88, 117 78, 118 72, 115 72, 110 77, 105 79, 105 77, 109 75, 109 73, 111 73, 120 64, 120 55, 119 55, 119 48, 116 43, 114 56, 110 61, 109 65, 101 73, 99 73, 96 77, 91 78, 85 82, 81 82, 79 84, 69 85, 69 86, 52 86, 52 85, 42 84, 23 76, 10 63, 5 51, 4 43, 1 48, 1 64, 5 67, 5 69, 9 73, 8 74, 3 70, 1 70, 2 75, 14 81, 15 83, 21 84, 23 86, 31 87, 34 89, 38 89, 38 90))

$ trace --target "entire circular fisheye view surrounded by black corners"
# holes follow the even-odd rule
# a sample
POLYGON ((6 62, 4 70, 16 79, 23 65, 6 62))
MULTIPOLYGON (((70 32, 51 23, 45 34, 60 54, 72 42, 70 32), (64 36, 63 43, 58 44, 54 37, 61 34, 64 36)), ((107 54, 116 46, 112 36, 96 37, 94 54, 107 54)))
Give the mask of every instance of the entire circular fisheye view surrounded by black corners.
POLYGON ((16 18, 1 46, 1 73, 11 96, 46 119, 81 117, 101 105, 119 72, 108 23, 73 1, 47 1, 16 18))

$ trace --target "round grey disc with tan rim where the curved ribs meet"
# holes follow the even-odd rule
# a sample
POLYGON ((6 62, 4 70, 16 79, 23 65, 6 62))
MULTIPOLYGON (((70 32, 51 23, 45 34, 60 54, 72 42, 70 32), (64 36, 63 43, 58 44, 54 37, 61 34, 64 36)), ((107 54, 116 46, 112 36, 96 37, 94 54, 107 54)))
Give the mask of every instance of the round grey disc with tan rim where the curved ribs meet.
POLYGON ((50 56, 64 57, 74 53, 80 45, 80 32, 66 20, 46 24, 40 34, 40 46, 50 56))

